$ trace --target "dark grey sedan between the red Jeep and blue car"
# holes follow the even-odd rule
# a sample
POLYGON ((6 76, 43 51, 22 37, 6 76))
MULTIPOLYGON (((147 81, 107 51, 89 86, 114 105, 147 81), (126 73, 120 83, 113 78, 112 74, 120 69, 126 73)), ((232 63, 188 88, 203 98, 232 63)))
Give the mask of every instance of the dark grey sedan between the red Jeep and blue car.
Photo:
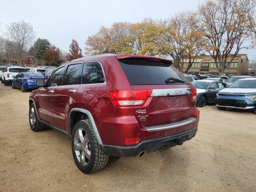
POLYGON ((193 81, 192 84, 196 87, 196 106, 198 107, 215 102, 217 92, 226 87, 223 82, 208 79, 193 81))

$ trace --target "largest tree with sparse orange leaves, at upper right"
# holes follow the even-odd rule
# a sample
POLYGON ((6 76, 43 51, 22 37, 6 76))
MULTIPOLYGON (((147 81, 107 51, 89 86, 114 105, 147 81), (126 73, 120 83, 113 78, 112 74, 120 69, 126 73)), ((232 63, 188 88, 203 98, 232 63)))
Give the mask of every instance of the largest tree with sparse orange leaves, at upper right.
POLYGON ((251 8, 248 0, 208 0, 198 7, 205 38, 205 50, 213 57, 219 74, 223 74, 244 48, 250 34, 251 8), (232 56, 228 60, 228 56, 232 56))

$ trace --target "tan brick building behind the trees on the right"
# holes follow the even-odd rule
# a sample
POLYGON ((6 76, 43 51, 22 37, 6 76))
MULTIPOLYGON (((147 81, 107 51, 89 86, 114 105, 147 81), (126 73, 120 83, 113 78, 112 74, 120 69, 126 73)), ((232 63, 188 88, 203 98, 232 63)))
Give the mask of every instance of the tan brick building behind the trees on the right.
MULTIPOLYGON (((228 56, 228 61, 230 61, 232 56, 228 56)), ((249 61, 247 54, 238 54, 233 59, 230 66, 225 70, 225 75, 241 75, 248 72, 249 61)), ((188 66, 188 60, 185 59, 183 71, 186 70, 188 66)), ((210 55, 197 56, 192 67, 188 70, 188 73, 195 74, 218 74, 216 69, 216 64, 214 59, 210 55)))

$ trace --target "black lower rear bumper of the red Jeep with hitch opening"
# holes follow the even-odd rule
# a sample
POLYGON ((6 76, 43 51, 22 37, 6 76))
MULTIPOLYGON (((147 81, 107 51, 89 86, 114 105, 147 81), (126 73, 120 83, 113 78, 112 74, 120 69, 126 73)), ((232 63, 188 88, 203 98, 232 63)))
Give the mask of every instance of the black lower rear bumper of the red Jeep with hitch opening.
POLYGON ((111 145, 101 145, 102 150, 105 154, 109 156, 119 156, 119 157, 134 157, 138 156, 141 152, 153 152, 158 150, 164 150, 176 145, 181 145, 183 142, 190 140, 195 136, 197 132, 197 127, 190 130, 167 136, 158 139, 145 140, 140 142, 136 146, 131 147, 120 147, 111 145))

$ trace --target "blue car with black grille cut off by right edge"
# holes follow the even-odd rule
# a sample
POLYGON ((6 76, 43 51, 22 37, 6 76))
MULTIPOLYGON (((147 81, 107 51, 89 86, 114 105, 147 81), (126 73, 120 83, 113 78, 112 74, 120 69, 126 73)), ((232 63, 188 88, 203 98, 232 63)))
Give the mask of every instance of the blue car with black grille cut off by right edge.
POLYGON ((216 106, 219 110, 236 108, 253 110, 256 114, 256 79, 241 78, 221 90, 216 95, 216 106))

